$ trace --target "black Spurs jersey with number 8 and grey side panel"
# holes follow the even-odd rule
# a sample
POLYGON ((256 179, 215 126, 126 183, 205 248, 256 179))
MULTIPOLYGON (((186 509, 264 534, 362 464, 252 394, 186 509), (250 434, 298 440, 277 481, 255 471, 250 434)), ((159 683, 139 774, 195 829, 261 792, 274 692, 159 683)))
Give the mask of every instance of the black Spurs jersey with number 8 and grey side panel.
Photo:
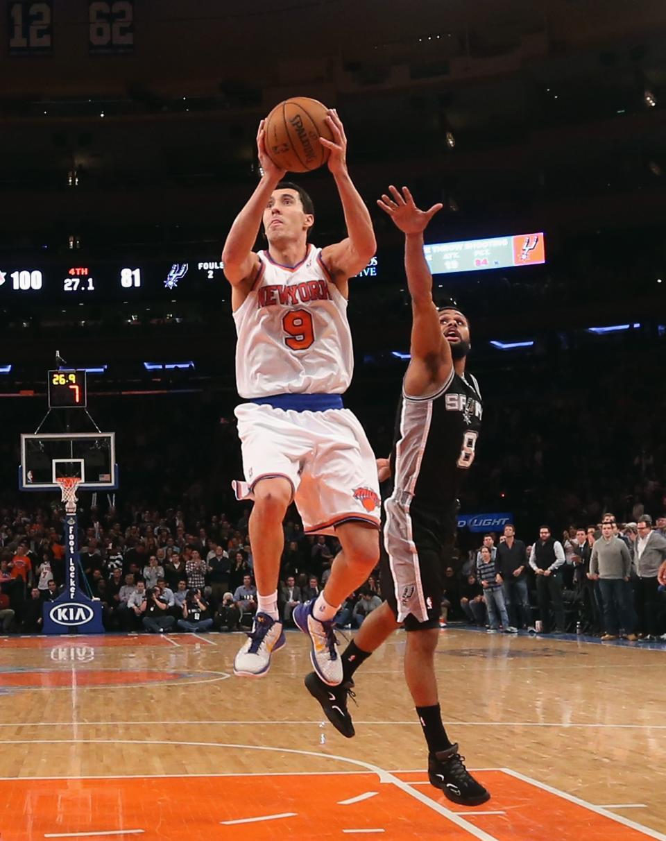
POLYGON ((393 500, 442 510, 472 466, 483 407, 476 378, 452 371, 430 397, 400 397, 391 452, 393 500))

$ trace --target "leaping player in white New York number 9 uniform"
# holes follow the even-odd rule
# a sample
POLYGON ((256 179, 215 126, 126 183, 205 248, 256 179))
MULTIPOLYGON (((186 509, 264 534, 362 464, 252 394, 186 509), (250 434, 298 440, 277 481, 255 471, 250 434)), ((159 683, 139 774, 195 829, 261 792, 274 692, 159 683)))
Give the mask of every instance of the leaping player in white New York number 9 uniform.
POLYGON ((254 500, 249 531, 258 594, 256 619, 234 671, 266 674, 272 652, 285 644, 278 574, 283 519, 294 500, 304 532, 335 534, 341 542, 324 592, 293 613, 309 635, 320 680, 338 685, 342 664, 333 618, 379 557, 376 463, 341 397, 353 368, 348 278, 367 265, 376 243, 370 214, 347 172, 341 120, 335 111, 327 119, 334 140, 320 142, 330 150, 346 239, 321 249, 309 243, 311 199, 282 181, 285 172, 267 155, 262 121, 256 139, 262 179, 236 217, 222 259, 233 287, 236 383, 247 401, 235 410, 246 479, 235 489, 239 499, 254 500), (252 251, 262 224, 268 246, 252 251))

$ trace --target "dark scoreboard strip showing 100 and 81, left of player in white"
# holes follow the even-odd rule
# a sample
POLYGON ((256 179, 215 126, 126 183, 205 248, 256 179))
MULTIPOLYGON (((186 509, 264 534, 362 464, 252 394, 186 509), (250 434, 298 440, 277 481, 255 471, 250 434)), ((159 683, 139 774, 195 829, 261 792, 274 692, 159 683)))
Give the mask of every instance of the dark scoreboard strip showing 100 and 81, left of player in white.
POLYGON ((103 304, 135 300, 222 299, 228 290, 222 262, 3 262, 0 304, 103 304))

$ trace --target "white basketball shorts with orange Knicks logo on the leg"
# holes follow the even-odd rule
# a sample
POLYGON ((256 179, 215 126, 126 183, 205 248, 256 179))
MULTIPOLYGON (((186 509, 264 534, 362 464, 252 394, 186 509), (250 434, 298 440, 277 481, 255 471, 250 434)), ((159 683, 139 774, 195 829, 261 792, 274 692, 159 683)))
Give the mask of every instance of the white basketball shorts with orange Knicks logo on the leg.
POLYGON ((253 499, 260 479, 283 476, 304 532, 335 535, 335 526, 364 521, 379 528, 377 463, 361 424, 348 409, 295 411, 236 406, 245 482, 236 498, 253 499))

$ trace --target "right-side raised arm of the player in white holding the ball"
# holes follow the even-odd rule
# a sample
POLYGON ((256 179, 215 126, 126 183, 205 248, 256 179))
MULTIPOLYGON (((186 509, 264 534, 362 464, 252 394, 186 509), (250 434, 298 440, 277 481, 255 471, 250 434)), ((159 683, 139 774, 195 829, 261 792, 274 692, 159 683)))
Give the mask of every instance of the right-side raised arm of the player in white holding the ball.
POLYGON ((353 278, 374 257, 377 241, 366 204, 347 171, 345 128, 335 109, 330 109, 326 120, 334 140, 320 137, 320 143, 330 150, 328 167, 340 193, 347 236, 335 245, 326 246, 321 252, 321 259, 334 278, 353 278))

